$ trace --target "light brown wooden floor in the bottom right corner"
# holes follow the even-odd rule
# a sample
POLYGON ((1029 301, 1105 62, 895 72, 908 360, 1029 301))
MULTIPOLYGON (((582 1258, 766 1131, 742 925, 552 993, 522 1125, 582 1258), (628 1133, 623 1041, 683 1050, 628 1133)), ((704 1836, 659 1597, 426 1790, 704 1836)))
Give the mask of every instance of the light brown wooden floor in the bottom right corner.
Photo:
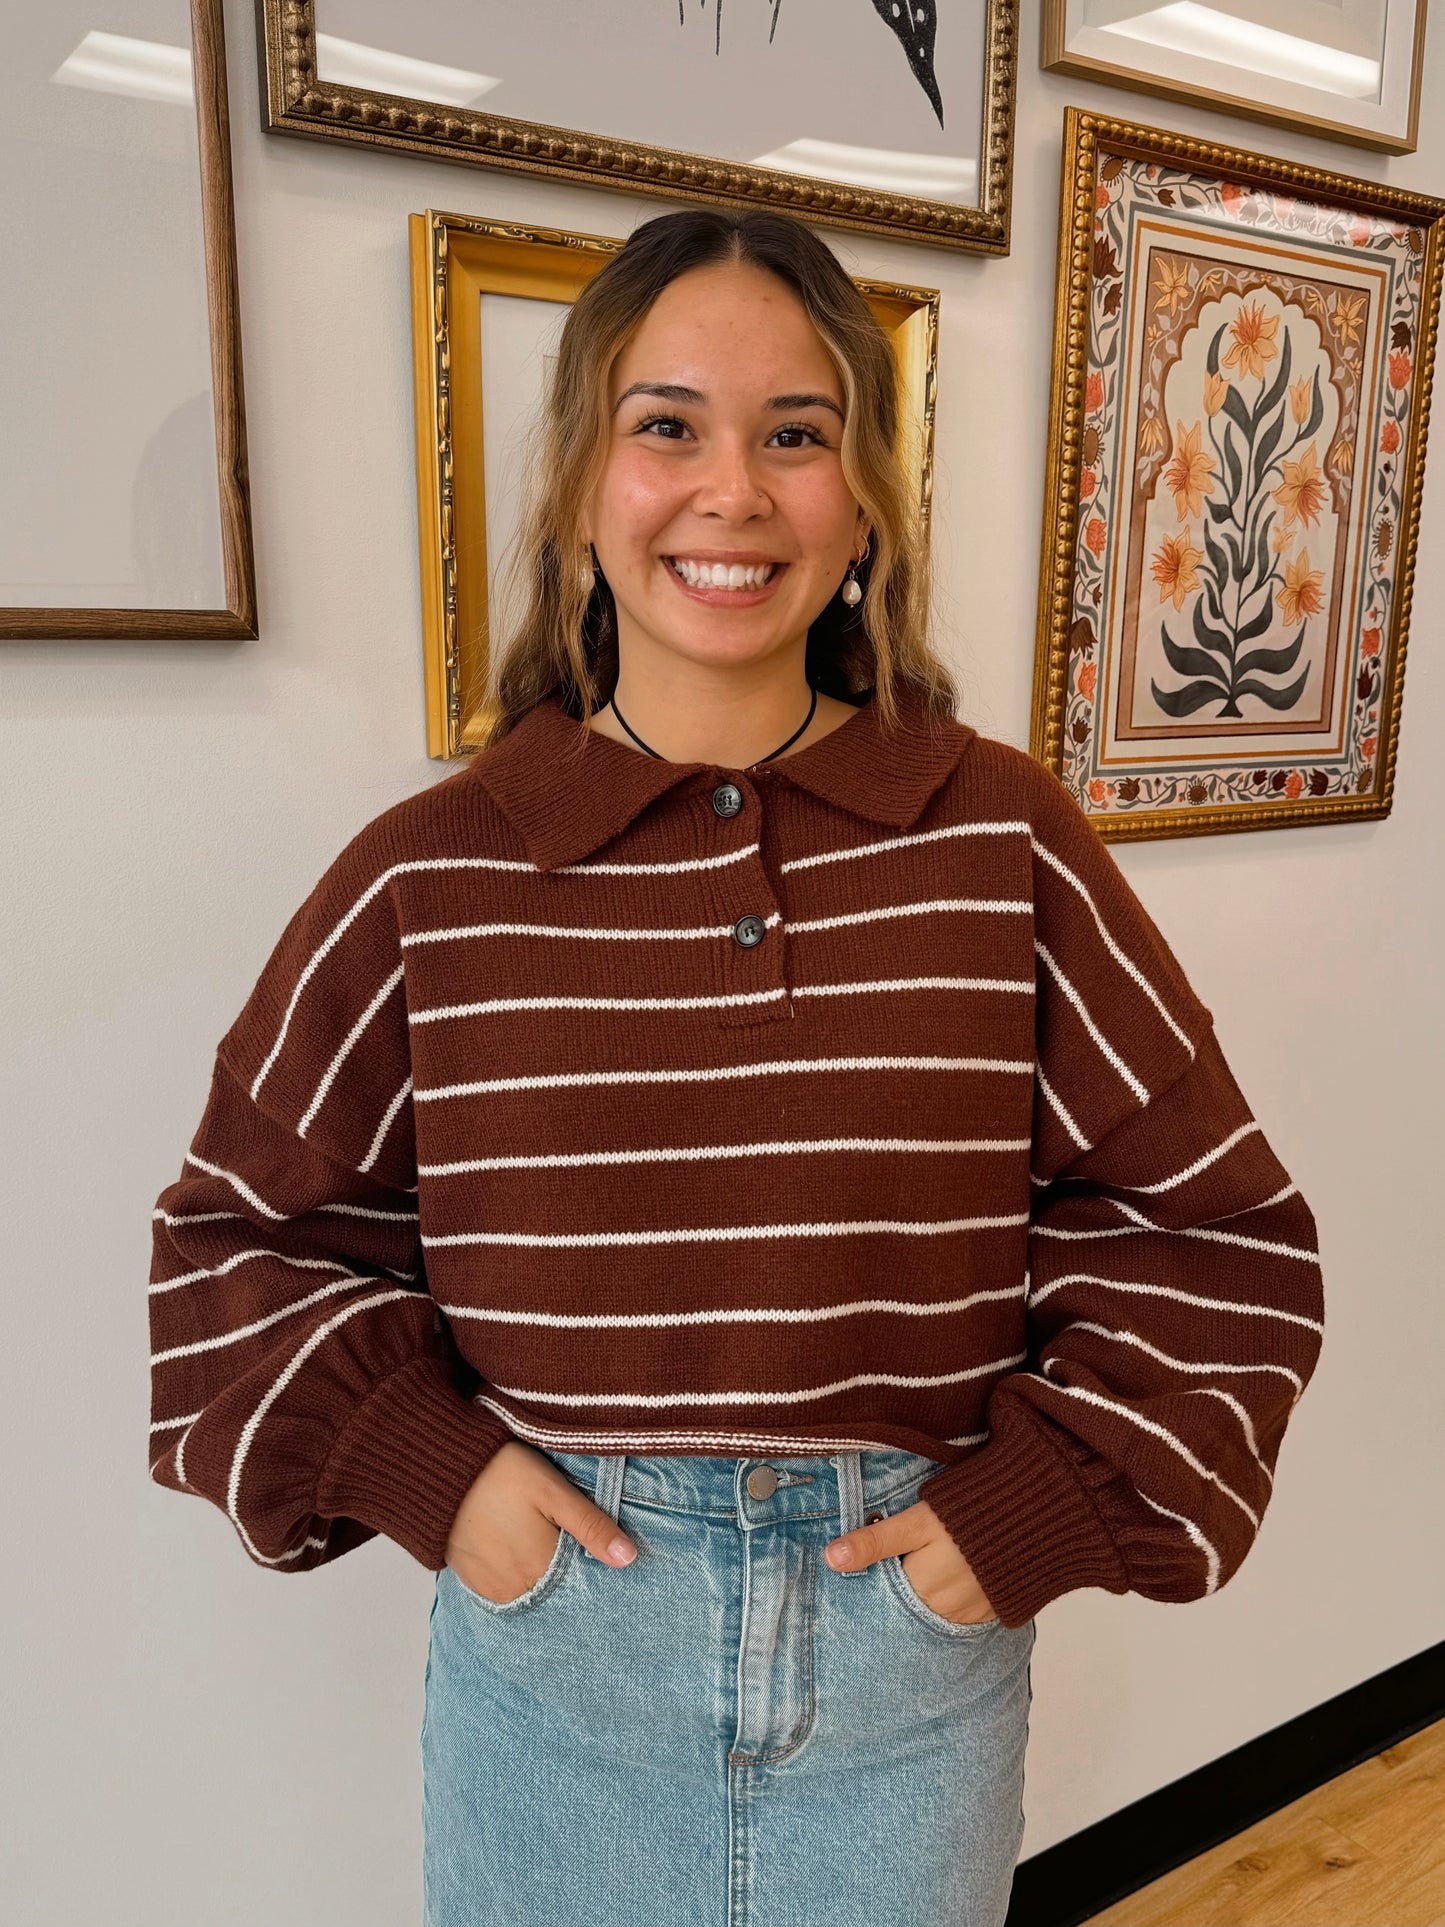
POLYGON ((1445 1721, 1090 1914, 1089 1927, 1445 1927, 1445 1721))

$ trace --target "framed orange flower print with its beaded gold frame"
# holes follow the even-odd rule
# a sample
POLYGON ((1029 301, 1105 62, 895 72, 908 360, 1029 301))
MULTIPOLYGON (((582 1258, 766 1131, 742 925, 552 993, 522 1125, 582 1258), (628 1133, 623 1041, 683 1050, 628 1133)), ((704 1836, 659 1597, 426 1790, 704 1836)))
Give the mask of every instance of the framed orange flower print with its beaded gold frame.
POLYGON ((1065 110, 1031 750, 1102 836, 1389 813, 1441 216, 1065 110))

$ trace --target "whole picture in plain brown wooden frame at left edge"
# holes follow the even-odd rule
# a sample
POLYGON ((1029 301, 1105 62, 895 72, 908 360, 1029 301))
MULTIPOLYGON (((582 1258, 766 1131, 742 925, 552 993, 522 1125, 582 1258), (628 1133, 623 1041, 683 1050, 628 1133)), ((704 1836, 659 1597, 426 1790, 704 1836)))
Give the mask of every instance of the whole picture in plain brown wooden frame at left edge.
POLYGON ((35 119, 42 160, 29 206, 8 189, 4 443, 17 466, 0 484, 13 597, 0 638, 258 634, 222 0, 191 0, 189 23, 189 48, 108 33, 71 44, 42 13, 15 35, 10 135, 35 119), (171 206, 175 158, 197 179, 171 206), (127 605, 125 588, 143 594, 127 605))

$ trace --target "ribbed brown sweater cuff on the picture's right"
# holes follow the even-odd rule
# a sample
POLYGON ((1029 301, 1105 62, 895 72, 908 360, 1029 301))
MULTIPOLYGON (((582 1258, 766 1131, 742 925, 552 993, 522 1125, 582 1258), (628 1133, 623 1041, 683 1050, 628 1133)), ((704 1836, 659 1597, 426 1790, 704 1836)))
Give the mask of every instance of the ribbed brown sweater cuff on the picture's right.
POLYGON ((1013 1401, 988 1414, 971 1459, 934 1472, 919 1499, 934 1509, 1006 1626, 1079 1586, 1127 1592, 1117 1547, 1069 1461, 1013 1401))

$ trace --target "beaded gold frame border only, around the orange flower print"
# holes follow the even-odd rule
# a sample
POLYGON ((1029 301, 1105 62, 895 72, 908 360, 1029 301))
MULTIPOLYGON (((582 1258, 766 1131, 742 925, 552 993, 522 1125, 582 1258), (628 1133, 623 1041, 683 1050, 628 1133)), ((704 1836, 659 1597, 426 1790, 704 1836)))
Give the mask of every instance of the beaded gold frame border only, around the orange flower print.
POLYGON ((1104 842, 1119 842, 1387 817, 1395 788, 1395 746, 1405 694, 1405 646, 1410 620, 1410 592, 1414 586, 1414 549, 1420 526, 1426 432, 1430 426, 1430 387, 1439 330, 1445 200, 1414 195, 1401 187, 1385 187, 1378 181, 1358 181, 1345 173, 1326 173, 1320 168, 1306 168, 1270 154, 1218 146, 1210 141, 1169 133, 1162 127, 1141 127, 1131 121, 1106 119, 1073 106, 1064 110, 1054 366, 1048 401, 1050 441, 1044 472, 1044 540, 1038 570, 1038 630, 1029 752, 1052 769, 1056 777, 1062 777, 1100 146, 1110 156, 1168 160, 1173 166, 1222 175, 1243 185, 1306 191, 1320 200, 1331 200, 1362 214, 1395 216, 1397 220, 1422 225, 1424 268, 1416 355, 1424 374, 1418 430, 1410 436, 1408 459, 1401 474, 1403 509, 1397 545, 1403 561, 1391 605, 1385 684, 1379 696, 1378 786, 1362 796, 1329 798, 1326 802, 1293 800, 1287 805, 1183 807, 1117 817, 1090 813, 1090 823, 1094 823, 1104 842))

